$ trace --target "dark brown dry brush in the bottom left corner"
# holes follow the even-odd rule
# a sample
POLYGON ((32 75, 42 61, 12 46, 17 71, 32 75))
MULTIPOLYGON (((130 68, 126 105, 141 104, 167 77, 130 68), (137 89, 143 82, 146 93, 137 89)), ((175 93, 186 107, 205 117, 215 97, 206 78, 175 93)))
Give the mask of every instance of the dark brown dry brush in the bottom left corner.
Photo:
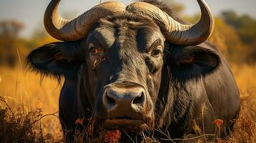
MULTIPOLYGON (((0 100, 5 102, 2 98, 0 100)), ((40 109, 15 113, 6 106, 6 109, 0 109, 1 142, 44 142, 42 128, 36 125, 42 116, 40 109)))

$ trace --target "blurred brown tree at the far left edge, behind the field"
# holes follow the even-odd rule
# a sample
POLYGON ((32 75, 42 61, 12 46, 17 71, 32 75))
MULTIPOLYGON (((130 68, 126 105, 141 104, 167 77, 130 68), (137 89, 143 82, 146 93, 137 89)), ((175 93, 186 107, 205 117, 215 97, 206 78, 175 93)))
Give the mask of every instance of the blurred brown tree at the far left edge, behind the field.
POLYGON ((15 44, 23 28, 19 21, 0 21, 0 64, 14 67, 18 57, 15 44))

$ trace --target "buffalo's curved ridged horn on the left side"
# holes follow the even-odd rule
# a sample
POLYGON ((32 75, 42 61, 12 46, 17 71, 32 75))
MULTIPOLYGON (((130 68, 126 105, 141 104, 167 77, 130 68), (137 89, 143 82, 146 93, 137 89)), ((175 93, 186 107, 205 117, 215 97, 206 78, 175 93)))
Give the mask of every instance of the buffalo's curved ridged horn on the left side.
POLYGON ((55 39, 75 41, 82 39, 98 19, 125 11, 125 6, 117 1, 106 1, 94 6, 76 19, 62 19, 58 14, 60 0, 52 0, 44 13, 44 27, 55 39))

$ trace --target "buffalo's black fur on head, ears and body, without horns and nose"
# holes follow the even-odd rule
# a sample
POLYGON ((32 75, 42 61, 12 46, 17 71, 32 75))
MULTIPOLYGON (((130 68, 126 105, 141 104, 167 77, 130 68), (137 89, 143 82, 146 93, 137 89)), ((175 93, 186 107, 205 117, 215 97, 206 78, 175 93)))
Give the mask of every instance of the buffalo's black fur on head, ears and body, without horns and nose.
MULTIPOLYGON (((147 2, 184 23, 167 6, 147 2)), ((65 77, 60 94, 60 119, 67 130, 75 129, 77 118, 108 119, 103 93, 110 84, 143 87, 148 107, 140 114, 141 118, 148 127, 169 132, 171 138, 196 136, 195 124, 204 128, 205 134, 214 134, 214 119, 224 120, 221 135, 225 137, 224 133, 232 127, 230 120, 237 117, 240 109, 234 77, 215 46, 208 42, 176 46, 165 41, 151 19, 133 14, 102 18, 84 39, 47 44, 32 51, 27 60, 42 75, 58 80, 65 77), (103 53, 91 54, 90 44, 103 53), (153 52, 156 49, 160 49, 158 54, 153 52), (103 57, 105 60, 94 66, 103 57)), ((162 137, 163 134, 157 134, 158 139, 162 137)))

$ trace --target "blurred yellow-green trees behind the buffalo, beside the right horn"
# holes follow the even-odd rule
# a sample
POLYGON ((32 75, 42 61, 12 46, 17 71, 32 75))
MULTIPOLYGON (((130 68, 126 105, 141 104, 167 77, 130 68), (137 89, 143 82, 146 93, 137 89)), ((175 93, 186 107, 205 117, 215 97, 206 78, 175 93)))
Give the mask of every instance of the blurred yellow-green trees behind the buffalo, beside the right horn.
MULTIPOLYGON (((200 14, 183 16, 186 21, 196 24, 200 14)), ((216 44, 229 61, 255 63, 256 61, 256 20, 251 16, 239 16, 234 11, 223 11, 215 17, 215 26, 209 38, 216 44)))

